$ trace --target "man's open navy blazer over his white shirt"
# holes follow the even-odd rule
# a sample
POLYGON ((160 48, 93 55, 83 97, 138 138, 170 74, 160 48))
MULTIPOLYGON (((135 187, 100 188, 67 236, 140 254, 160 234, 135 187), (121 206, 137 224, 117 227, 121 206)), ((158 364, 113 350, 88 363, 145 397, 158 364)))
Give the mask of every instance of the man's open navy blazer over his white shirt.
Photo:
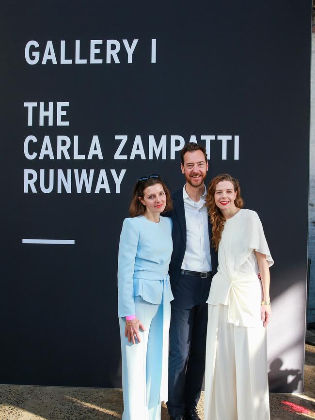
MULTIPOLYGON (((179 191, 176 191, 172 195, 173 200, 173 210, 168 212, 166 216, 172 218, 173 221, 173 253, 171 258, 171 263, 169 266, 169 275, 171 287, 175 290, 175 286, 180 274, 180 267, 182 265, 185 250, 186 250, 186 218, 185 218, 185 209, 184 209, 184 199, 183 199, 183 188, 179 191)), ((211 247, 211 230, 212 225, 210 219, 208 218, 208 229, 209 229, 209 239, 210 239, 210 256, 211 256, 211 266, 212 266, 212 275, 218 270, 218 252, 211 247)))

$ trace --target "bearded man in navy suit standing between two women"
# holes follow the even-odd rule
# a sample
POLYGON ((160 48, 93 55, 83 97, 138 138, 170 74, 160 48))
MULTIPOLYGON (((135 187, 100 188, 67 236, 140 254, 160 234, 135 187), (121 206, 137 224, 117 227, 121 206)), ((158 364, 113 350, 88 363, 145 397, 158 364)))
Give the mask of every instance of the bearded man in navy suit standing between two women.
POLYGON ((205 373, 205 301, 218 267, 205 207, 208 162, 204 146, 186 144, 181 151, 181 170, 186 184, 172 197, 173 254, 169 274, 174 300, 167 407, 170 420, 200 420, 196 406, 205 373))

